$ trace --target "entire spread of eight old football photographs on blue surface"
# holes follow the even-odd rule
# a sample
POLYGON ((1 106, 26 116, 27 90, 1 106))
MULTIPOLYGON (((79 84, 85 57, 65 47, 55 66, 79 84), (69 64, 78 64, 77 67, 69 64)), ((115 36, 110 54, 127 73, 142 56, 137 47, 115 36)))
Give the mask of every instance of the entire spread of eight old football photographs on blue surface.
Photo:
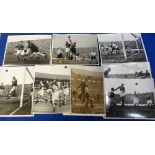
POLYGON ((140 34, 9 35, 0 115, 154 118, 154 82, 140 34))

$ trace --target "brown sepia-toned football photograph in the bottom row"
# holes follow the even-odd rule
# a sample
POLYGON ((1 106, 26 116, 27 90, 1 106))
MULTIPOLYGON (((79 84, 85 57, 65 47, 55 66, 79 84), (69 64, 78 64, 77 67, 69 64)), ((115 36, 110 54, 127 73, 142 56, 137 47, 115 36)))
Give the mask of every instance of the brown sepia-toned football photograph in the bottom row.
POLYGON ((71 66, 72 113, 104 115, 102 66, 71 66))

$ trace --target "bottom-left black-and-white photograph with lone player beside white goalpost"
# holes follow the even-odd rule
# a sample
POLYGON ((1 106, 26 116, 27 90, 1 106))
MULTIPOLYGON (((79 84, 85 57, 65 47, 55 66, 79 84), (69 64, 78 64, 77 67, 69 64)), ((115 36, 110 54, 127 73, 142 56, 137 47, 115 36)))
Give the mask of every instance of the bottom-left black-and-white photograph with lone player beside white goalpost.
POLYGON ((34 67, 0 67, 0 115, 31 115, 34 67))

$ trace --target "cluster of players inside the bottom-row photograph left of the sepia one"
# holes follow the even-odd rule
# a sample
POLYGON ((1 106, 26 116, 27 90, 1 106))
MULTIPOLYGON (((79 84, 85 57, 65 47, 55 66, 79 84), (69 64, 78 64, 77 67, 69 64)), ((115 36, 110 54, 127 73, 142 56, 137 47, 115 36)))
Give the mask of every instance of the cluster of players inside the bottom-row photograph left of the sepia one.
POLYGON ((69 92, 69 84, 67 82, 41 80, 35 104, 43 101, 47 103, 49 101, 52 104, 53 112, 55 112, 56 105, 60 108, 67 104, 69 92))

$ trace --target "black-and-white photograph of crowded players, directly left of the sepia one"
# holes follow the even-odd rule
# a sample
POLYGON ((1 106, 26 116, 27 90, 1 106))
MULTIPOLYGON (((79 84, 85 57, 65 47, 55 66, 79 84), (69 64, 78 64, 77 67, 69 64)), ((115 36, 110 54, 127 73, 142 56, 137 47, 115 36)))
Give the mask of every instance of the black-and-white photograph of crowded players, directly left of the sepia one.
POLYGON ((70 110, 70 66, 36 66, 32 113, 68 113, 70 110))

